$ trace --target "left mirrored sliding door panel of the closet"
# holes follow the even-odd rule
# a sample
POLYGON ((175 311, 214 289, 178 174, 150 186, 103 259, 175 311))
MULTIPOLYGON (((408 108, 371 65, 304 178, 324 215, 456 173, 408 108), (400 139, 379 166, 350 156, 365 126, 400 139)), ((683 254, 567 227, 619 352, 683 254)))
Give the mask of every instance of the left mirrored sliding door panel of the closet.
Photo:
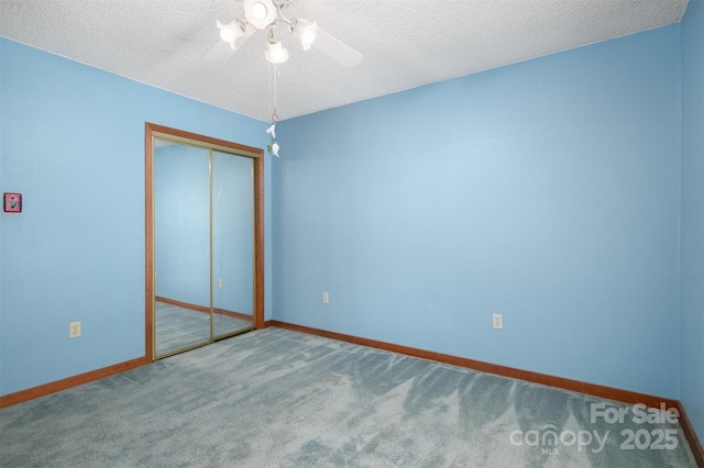
POLYGON ((157 357, 210 342, 209 151, 155 138, 157 357))

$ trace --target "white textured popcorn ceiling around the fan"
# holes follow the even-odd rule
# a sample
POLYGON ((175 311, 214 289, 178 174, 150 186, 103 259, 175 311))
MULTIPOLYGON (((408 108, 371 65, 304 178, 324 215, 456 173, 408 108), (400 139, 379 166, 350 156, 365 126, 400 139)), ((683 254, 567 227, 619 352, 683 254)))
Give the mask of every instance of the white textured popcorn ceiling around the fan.
MULTIPOLYGON (((280 119, 317 112, 682 19, 688 0, 299 0, 288 18, 364 55, 344 68, 279 34, 280 119)), ((272 114, 273 73, 257 31, 228 60, 206 54, 216 20, 242 0, 0 0, 0 35, 258 120, 272 114)))

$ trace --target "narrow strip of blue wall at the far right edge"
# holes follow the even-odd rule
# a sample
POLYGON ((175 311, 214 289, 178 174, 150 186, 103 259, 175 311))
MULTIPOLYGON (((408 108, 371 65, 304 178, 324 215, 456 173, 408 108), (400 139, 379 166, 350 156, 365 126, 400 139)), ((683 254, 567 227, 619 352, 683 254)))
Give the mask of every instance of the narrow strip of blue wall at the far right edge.
POLYGON ((704 2, 682 21, 681 400, 704 442, 704 2))

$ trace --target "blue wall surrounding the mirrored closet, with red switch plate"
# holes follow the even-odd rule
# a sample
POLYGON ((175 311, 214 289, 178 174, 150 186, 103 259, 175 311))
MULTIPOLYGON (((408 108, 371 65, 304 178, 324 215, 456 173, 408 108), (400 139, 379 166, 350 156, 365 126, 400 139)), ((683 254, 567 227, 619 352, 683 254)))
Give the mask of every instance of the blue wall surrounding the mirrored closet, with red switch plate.
POLYGON ((256 147, 268 135, 266 123, 6 38, 0 66, 0 186, 24 202, 0 213, 8 394, 144 356, 145 121, 256 147))

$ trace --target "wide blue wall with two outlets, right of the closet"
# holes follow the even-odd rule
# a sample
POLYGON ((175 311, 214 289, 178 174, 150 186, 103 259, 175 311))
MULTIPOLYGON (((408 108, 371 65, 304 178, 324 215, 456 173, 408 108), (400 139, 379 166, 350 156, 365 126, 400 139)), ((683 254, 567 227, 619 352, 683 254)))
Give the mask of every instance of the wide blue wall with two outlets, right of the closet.
POLYGON ((283 122, 274 317, 679 398, 680 68, 671 25, 283 122))

